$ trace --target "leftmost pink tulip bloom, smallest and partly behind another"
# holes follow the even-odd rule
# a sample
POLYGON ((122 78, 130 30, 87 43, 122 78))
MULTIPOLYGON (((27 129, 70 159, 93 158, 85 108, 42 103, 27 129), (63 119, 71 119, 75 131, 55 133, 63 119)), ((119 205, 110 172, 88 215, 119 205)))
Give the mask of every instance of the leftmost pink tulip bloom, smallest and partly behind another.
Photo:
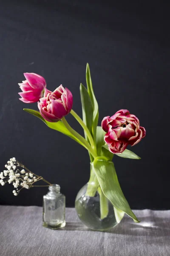
POLYGON ((20 100, 25 103, 38 102, 46 87, 45 79, 34 73, 24 73, 24 76, 26 80, 19 84, 23 91, 23 93, 18 93, 21 96, 20 100))

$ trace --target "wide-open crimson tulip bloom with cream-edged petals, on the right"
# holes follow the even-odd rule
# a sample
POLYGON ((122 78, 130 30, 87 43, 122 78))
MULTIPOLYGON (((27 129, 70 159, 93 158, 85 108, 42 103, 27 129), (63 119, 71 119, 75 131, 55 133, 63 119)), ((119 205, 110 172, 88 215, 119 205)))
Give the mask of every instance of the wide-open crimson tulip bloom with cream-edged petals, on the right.
POLYGON ((139 119, 127 109, 117 111, 113 116, 102 120, 105 142, 113 154, 122 153, 127 145, 134 146, 145 137, 146 131, 140 126, 139 119))

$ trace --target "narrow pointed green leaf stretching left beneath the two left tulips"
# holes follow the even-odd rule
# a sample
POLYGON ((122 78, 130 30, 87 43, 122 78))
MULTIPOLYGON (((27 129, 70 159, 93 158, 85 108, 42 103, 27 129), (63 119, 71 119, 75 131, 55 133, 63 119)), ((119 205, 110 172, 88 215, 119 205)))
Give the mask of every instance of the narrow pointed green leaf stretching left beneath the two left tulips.
POLYGON ((24 108, 23 109, 24 111, 30 113, 31 115, 33 116, 37 116, 38 118, 40 118, 43 122, 45 122, 45 124, 53 129, 53 130, 56 130, 56 131, 59 131, 61 132, 62 134, 65 134, 67 135, 68 137, 70 137, 71 139, 77 141, 80 145, 82 145, 82 143, 73 135, 71 134, 70 131, 68 131, 68 129, 65 127, 65 125, 61 122, 61 121, 58 121, 58 122, 48 122, 46 121, 40 114, 39 111, 36 111, 36 110, 33 110, 33 109, 28 109, 28 108, 24 108))

